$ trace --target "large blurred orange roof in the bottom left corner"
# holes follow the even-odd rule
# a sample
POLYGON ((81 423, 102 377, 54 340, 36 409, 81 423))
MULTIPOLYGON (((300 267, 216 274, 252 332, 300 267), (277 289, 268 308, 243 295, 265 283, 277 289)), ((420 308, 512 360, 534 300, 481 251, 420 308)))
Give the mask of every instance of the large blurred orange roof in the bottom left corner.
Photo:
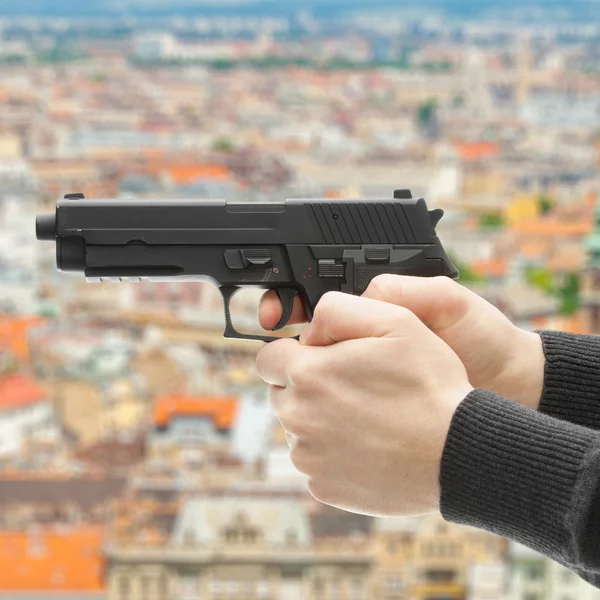
POLYGON ((100 527, 65 533, 0 533, 0 595, 4 592, 104 590, 100 527))

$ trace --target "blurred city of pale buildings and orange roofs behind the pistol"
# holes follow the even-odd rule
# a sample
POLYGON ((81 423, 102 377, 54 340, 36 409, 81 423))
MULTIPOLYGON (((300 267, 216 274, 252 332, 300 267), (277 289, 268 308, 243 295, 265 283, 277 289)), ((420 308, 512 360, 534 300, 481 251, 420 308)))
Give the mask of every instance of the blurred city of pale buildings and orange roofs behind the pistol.
POLYGON ((376 4, 0 20, 1 598, 600 598, 491 534, 313 501, 217 290, 87 284, 35 240, 73 192, 412 188, 462 283, 600 333, 600 22, 376 4))

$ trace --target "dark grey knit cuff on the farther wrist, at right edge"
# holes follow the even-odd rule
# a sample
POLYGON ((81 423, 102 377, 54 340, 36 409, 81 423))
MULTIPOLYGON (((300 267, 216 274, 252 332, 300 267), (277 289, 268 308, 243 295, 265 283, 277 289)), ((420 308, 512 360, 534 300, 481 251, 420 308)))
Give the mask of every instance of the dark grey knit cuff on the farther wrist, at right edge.
POLYGON ((600 429, 600 337, 538 333, 546 355, 540 412, 600 429))

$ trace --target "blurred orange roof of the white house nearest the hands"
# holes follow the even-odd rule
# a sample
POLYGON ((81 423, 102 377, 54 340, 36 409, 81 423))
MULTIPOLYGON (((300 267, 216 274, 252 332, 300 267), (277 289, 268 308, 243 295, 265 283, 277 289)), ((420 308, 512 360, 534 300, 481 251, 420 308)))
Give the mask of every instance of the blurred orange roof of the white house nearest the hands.
POLYGON ((154 405, 154 423, 157 427, 166 427, 175 416, 207 417, 218 429, 229 429, 237 413, 237 404, 234 397, 162 396, 154 405))

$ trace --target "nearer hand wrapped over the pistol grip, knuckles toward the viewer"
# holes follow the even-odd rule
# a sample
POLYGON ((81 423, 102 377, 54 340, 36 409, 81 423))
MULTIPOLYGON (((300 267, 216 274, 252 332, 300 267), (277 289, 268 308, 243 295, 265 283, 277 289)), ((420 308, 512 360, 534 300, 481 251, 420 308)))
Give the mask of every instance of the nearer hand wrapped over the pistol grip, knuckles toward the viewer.
POLYGON ((374 516, 438 510, 450 422, 473 388, 414 314, 327 294, 300 341, 261 349, 257 371, 317 500, 374 516))

